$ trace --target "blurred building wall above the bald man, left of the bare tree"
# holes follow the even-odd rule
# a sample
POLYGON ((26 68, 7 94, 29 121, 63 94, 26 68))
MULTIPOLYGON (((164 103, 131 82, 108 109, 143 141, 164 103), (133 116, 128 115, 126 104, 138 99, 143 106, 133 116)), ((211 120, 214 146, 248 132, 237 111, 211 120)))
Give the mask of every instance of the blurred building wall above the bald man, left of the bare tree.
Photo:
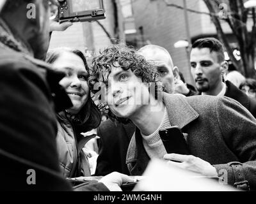
MULTIPOLYGON (((147 44, 156 44, 166 48, 172 55, 175 66, 183 73, 186 82, 194 84, 189 65, 189 50, 175 48, 174 44, 180 40, 193 42, 205 36, 216 37, 216 28, 206 13, 209 10, 202 0, 186 0, 189 10, 188 26, 184 15, 184 1, 180 0, 133 0, 132 11, 137 34, 133 41, 140 48, 147 44), (168 6, 174 4, 176 6, 168 6), (189 31, 189 37, 188 37, 189 31)), ((220 10, 221 11, 221 10, 220 10)), ((221 22, 223 31, 231 34, 227 23, 221 22)), ((232 43, 232 37, 230 38, 232 43)))

